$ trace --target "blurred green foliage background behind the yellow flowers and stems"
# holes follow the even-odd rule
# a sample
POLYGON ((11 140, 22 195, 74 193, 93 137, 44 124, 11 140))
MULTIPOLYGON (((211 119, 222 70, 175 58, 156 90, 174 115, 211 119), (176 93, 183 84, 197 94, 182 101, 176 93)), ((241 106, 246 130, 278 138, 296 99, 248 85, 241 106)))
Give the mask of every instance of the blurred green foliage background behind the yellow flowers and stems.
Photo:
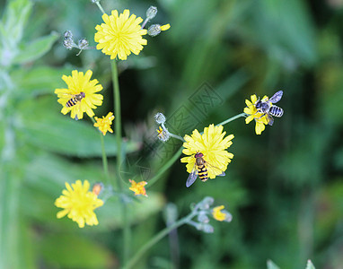
MULTIPOLYGON (((181 145, 156 141, 154 113, 168 117, 176 134, 190 134, 242 113, 251 94, 269 97, 285 115, 261 135, 239 118, 233 162, 224 178, 186 188, 177 161, 148 198, 129 204, 131 253, 165 227, 166 203, 180 216, 189 204, 215 198, 233 213, 231 223, 211 221, 213 234, 184 226, 165 238, 136 268, 281 268, 343 265, 343 1, 162 0, 106 1, 112 9, 171 29, 148 39, 139 56, 119 62, 127 161, 121 177, 154 177, 181 145)), ((62 74, 92 69, 103 85, 96 116, 113 111, 110 59, 97 50, 62 46, 63 32, 95 46, 101 12, 91 1, 14 0, 0 4, 0 268, 118 268, 122 221, 118 197, 96 213, 100 224, 79 229, 57 220, 55 199, 65 182, 103 181, 101 143, 88 119, 59 111, 62 74)), ((114 175, 116 144, 105 137, 114 175)))

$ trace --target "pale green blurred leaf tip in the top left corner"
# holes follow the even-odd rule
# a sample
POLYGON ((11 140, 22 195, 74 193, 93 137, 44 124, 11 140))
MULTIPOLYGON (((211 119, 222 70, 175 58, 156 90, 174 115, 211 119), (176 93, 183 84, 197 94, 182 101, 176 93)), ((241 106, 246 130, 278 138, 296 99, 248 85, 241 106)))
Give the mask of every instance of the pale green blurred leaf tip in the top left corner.
MULTIPOLYGON (((22 39, 22 32, 31 13, 32 3, 29 0, 14 0, 7 4, 3 17, 3 38, 11 47, 22 39)), ((13 48, 13 49, 14 49, 13 48)))

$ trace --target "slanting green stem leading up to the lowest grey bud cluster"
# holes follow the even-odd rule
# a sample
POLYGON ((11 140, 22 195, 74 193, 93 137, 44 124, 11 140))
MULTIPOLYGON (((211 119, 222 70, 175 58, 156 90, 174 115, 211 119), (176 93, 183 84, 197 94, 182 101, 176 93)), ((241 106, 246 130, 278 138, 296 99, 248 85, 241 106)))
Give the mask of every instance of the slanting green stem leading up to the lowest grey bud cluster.
POLYGON ((143 247, 141 247, 129 261, 128 264, 123 267, 123 269, 130 269, 133 268, 134 265, 142 258, 145 252, 150 248, 153 247, 158 241, 163 239, 166 235, 168 235, 172 230, 180 227, 181 225, 190 221, 194 216, 197 215, 197 211, 193 211, 189 213, 186 217, 180 219, 179 221, 174 222, 171 226, 164 228, 158 234, 154 236, 154 238, 150 239, 143 247))

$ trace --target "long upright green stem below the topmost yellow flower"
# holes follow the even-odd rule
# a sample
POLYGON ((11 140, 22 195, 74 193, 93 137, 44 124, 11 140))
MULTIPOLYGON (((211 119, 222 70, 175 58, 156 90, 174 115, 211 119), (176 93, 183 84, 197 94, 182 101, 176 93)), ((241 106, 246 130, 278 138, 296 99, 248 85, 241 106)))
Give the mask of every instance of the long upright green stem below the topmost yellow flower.
MULTIPOLYGON (((123 191, 123 184, 120 178, 120 168, 123 163, 123 152, 121 151, 121 113, 120 113, 120 91, 119 91, 119 78, 118 78, 118 69, 117 63, 115 60, 110 61, 112 69, 112 82, 113 82, 113 97, 114 97, 114 113, 116 116, 115 120, 115 130, 117 138, 117 186, 119 192, 123 191)), ((130 241, 131 241, 131 228, 128 223, 128 206, 125 201, 121 201, 121 216, 123 219, 123 265, 126 265, 128 261, 128 256, 130 254, 130 241)))

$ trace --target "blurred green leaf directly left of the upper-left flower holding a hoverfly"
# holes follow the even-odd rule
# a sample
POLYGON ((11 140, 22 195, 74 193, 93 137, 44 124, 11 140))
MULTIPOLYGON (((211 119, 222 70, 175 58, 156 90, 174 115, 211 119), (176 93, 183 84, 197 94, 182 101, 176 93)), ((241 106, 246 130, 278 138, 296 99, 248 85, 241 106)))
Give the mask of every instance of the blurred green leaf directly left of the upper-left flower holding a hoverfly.
POLYGON ((39 95, 53 93, 57 88, 66 86, 62 80, 63 74, 71 74, 72 67, 52 68, 49 66, 34 67, 31 69, 17 69, 12 74, 16 88, 22 95, 39 95))

